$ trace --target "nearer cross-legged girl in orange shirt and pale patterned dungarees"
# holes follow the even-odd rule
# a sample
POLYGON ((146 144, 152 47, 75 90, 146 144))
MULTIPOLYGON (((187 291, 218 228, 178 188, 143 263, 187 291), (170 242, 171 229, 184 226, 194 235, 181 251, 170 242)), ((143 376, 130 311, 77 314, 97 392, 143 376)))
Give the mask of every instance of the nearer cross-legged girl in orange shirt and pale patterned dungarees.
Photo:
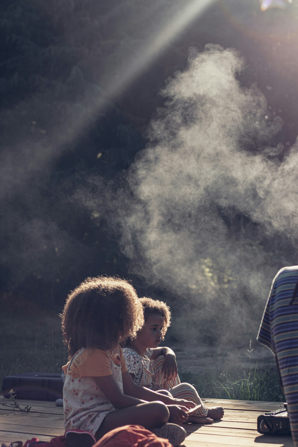
POLYGON ((142 305, 125 280, 87 278, 68 295, 62 314, 69 354, 63 367, 66 430, 87 430, 100 439, 113 428, 135 424, 174 446, 185 439, 176 424, 187 420, 193 402, 143 388, 127 371, 119 342, 135 337, 143 322, 142 305))

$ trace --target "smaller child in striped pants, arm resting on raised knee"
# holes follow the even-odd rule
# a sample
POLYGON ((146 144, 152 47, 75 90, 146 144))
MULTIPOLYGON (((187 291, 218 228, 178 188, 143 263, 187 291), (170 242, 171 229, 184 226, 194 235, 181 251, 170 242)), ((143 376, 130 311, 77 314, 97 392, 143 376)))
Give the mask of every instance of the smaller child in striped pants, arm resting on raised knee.
POLYGON ((200 405, 187 422, 208 424, 222 419, 222 407, 207 408, 197 390, 180 383, 175 353, 168 347, 158 348, 170 325, 171 311, 167 304, 152 298, 141 298, 145 324, 137 337, 129 338, 123 355, 130 375, 136 384, 158 390, 176 398, 188 399, 200 405), (166 391, 167 390, 167 391, 166 391))

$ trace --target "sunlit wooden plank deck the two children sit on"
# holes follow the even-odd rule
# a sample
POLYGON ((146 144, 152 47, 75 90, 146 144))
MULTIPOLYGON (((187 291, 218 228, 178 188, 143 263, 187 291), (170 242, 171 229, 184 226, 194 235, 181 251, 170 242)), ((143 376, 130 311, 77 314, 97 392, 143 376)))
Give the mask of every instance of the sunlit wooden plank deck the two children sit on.
MULTIPOLYGON (((4 401, 9 402, 8 399, 4 401)), ((282 408, 279 402, 229 401, 203 399, 207 406, 221 405, 225 409, 222 421, 212 425, 185 426, 188 433, 185 447, 241 446, 294 447, 290 436, 261 435, 256 431, 256 418, 264 411, 282 408)), ((0 402, 3 398, 0 397, 0 402)), ((49 401, 19 401, 22 408, 32 406, 29 413, 21 413, 0 405, 0 443, 23 441, 34 436, 49 441, 64 433, 63 409, 49 401)))

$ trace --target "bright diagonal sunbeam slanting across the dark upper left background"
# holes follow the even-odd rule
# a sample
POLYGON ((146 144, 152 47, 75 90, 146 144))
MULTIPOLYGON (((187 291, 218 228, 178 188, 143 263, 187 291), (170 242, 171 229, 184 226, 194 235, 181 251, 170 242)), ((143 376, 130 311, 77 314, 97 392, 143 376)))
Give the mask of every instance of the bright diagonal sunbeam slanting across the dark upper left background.
MULTIPOLYGON (((184 8, 177 14, 177 4, 172 6, 169 11, 169 19, 166 24, 161 24, 159 31, 151 32, 151 39, 140 45, 134 51, 130 59, 119 61, 119 65, 125 66, 125 69, 119 76, 118 72, 110 72, 108 80, 105 84, 101 84, 102 96, 96 100, 93 93, 85 95, 82 105, 84 106, 84 114, 77 114, 76 118, 71 117, 67 120, 65 117, 60 120, 61 128, 56 127, 51 135, 44 138, 41 145, 33 148, 26 147, 23 141, 20 142, 19 166, 26 166, 26 169, 20 169, 18 176, 15 176, 14 154, 12 152, 2 153, 1 164, 5 166, 6 172, 12 169, 11 186, 21 186, 22 182, 36 170, 42 170, 43 166, 49 164, 51 160, 55 160, 66 149, 67 144, 78 138, 78 135, 90 124, 95 116, 98 116, 106 107, 107 101, 117 97, 128 85, 133 82, 153 60, 164 50, 164 48, 180 33, 187 25, 195 20, 204 10, 212 4, 214 0, 192 0, 185 4, 184 8), (30 164, 28 165, 28 152, 30 152, 30 164)), ((156 12, 157 15, 157 12, 156 12)), ((35 101, 35 97, 32 101, 35 101)), ((12 187, 4 188, 3 194, 10 194, 12 187)))

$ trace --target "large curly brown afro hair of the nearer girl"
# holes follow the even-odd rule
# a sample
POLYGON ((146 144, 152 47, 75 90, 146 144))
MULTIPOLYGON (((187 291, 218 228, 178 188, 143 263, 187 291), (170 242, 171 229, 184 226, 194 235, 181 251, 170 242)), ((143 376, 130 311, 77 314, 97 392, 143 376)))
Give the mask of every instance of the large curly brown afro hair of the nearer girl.
POLYGON ((115 277, 87 278, 69 293, 62 313, 68 358, 83 347, 113 350, 135 337, 143 324, 143 308, 130 283, 115 277))

